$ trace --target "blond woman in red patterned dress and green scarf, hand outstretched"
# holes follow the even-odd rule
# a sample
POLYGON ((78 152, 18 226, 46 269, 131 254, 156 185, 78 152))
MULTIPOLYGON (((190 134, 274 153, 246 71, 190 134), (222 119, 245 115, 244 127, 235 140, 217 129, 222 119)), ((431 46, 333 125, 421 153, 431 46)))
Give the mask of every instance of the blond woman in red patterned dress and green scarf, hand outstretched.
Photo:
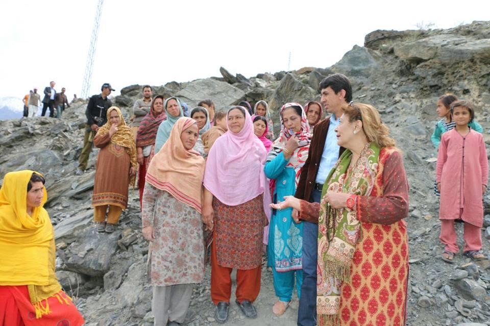
POLYGON ((318 325, 405 325, 408 182, 403 159, 378 111, 344 108, 335 129, 346 148, 323 186, 322 201, 292 196, 273 204, 318 216, 318 325))

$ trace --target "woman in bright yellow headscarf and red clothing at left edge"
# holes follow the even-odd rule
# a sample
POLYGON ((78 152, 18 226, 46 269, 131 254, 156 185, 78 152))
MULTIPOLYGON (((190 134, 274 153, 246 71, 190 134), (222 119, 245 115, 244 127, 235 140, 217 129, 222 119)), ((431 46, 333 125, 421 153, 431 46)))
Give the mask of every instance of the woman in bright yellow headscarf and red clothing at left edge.
POLYGON ((0 326, 84 323, 56 278, 46 199, 41 174, 23 170, 5 175, 0 189, 0 326))

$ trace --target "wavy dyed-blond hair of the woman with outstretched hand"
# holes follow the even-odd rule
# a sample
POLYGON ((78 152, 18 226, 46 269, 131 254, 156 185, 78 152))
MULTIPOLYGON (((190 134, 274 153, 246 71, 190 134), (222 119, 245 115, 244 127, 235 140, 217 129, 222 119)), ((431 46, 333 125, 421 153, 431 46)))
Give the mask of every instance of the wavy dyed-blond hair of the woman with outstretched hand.
POLYGON ((396 147, 395 139, 389 137, 389 128, 381 121, 375 107, 364 103, 351 102, 342 107, 349 122, 360 120, 367 141, 375 142, 380 147, 396 147))

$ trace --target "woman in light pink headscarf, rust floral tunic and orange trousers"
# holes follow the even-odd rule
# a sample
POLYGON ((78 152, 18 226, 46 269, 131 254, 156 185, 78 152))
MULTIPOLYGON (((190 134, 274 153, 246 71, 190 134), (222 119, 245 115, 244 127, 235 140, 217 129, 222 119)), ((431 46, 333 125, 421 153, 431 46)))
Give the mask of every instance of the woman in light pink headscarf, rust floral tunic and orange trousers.
POLYGON ((213 230, 211 299, 218 322, 228 319, 231 271, 236 273, 236 303, 248 318, 260 291, 262 240, 267 224, 266 152, 254 135, 249 112, 240 106, 228 111, 228 131, 211 147, 204 174, 203 221, 213 230))

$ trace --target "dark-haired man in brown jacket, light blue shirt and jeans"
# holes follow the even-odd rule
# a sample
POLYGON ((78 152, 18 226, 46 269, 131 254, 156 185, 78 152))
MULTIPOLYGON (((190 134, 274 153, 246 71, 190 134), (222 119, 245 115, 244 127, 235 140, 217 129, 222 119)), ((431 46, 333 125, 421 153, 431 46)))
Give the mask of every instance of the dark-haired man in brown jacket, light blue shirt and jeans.
MULTIPOLYGON (((335 128, 342 115, 342 106, 352 101, 352 87, 349 79, 340 73, 325 78, 320 83, 320 102, 331 113, 315 126, 308 158, 301 168, 300 181, 295 197, 320 203, 322 188, 328 173, 338 157, 344 152, 337 144, 335 128)), ((298 211, 293 210, 293 218, 298 221, 298 211)), ((318 216, 303 221, 303 284, 301 286, 298 325, 316 325, 316 246, 318 238, 318 216)))

